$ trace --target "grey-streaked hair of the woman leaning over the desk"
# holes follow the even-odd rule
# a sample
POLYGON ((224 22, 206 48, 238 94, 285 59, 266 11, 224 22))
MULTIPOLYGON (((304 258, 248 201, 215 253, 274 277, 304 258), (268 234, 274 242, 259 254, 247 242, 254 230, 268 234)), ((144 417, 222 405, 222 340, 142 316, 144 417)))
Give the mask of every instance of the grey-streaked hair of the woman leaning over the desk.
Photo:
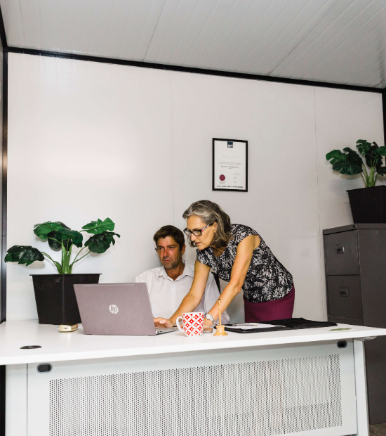
MULTIPOLYGON (((232 239, 230 231, 230 218, 219 205, 209 200, 199 200, 192 203, 187 210, 182 214, 182 218, 187 219, 195 215, 204 221, 205 224, 213 224, 217 222, 217 230, 212 244, 215 248, 226 247, 232 239)), ((190 238, 189 245, 195 247, 194 242, 190 238)))

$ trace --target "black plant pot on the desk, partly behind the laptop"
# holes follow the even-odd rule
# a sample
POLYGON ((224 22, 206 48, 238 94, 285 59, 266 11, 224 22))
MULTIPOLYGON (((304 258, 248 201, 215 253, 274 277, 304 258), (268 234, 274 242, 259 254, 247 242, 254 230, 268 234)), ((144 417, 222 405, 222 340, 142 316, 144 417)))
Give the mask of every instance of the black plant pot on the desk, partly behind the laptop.
POLYGON ((31 274, 39 323, 81 323, 74 286, 98 283, 100 274, 31 274))

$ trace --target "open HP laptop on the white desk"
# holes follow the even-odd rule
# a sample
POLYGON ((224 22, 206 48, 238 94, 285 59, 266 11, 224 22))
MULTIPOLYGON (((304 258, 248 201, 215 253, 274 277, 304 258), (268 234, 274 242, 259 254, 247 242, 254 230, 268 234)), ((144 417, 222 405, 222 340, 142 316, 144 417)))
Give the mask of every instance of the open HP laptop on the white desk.
POLYGON ((74 285, 86 335, 154 336, 178 330, 155 328, 146 283, 74 285))

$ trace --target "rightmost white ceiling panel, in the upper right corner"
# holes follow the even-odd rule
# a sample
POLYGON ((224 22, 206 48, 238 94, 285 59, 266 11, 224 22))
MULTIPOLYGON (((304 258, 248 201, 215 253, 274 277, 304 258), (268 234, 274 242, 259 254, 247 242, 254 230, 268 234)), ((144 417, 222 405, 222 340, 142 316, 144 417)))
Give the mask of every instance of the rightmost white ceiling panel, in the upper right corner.
POLYGON ((272 75, 377 86, 386 79, 385 23, 385 0, 341 0, 272 75))

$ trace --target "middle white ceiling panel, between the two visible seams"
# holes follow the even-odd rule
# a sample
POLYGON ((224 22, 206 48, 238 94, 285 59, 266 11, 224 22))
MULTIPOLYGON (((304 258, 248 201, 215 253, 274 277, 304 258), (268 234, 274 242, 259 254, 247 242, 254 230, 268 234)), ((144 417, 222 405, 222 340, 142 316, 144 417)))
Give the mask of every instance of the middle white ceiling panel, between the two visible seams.
POLYGON ((166 0, 148 62, 267 75, 339 0, 166 0))

